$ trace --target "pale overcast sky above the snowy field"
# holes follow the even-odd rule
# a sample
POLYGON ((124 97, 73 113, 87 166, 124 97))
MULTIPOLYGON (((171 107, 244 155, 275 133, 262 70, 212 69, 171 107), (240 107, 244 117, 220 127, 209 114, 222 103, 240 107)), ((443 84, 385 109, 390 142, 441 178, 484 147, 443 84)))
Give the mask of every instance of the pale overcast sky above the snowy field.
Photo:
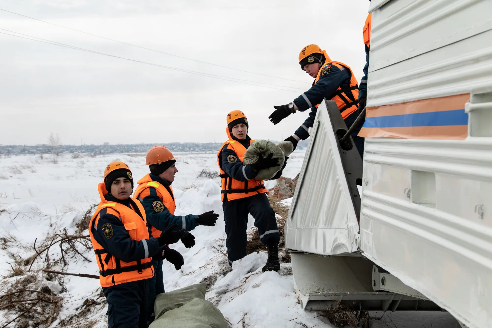
POLYGON ((268 116, 310 88, 300 50, 318 44, 360 81, 368 7, 368 0, 1 1, 0 9, 39 20, 272 77, 0 10, 3 33, 191 71, 0 34, 0 144, 46 143, 51 132, 78 145, 223 142, 234 109, 245 112, 252 138, 286 138, 308 112, 277 125, 268 116))

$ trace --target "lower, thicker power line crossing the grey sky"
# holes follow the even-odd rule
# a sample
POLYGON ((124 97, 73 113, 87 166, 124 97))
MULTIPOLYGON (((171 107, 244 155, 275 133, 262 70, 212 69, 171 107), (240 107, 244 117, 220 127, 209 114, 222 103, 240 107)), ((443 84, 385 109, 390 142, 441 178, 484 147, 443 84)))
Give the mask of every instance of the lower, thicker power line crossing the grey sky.
MULTIPOLYGON (((5 29, 0 29, 0 30, 5 30, 5 29)), ((161 68, 176 70, 176 71, 180 71, 180 72, 184 72, 184 73, 190 73, 190 74, 195 74, 195 75, 201 75, 201 76, 211 77, 211 78, 214 78, 214 79, 219 79, 219 80, 224 80, 224 81, 242 83, 242 84, 247 84, 247 85, 251 85, 251 86, 264 87, 264 88, 270 88, 270 89, 277 89, 277 90, 283 90, 283 91, 298 92, 298 91, 295 91, 295 90, 280 89, 280 88, 275 88, 275 87, 268 87, 268 86, 262 86, 262 85, 259 85, 259 84, 254 84, 254 83, 267 84, 267 83, 263 83, 263 82, 256 82, 256 81, 248 81, 248 80, 230 78, 230 77, 227 77, 227 76, 214 75, 214 74, 209 74, 209 73, 191 71, 191 70, 182 69, 182 68, 165 66, 165 65, 156 64, 156 63, 152 63, 152 62, 148 62, 148 61, 143 61, 143 60, 134 60, 134 59, 131 59, 131 58, 125 58, 125 57, 121 57, 121 56, 116 56, 116 55, 101 53, 101 52, 98 52, 98 51, 94 51, 94 50, 90 50, 90 49, 85 49, 85 48, 80 48, 80 47, 72 46, 72 45, 69 45, 69 44, 64 44, 64 43, 61 43, 61 42, 47 40, 47 39, 43 39, 43 38, 39 38, 39 37, 36 37, 36 36, 32 36, 32 35, 28 35, 28 34, 23 34, 23 33, 19 33, 19 32, 15 32, 15 31, 11 31, 11 30, 5 30, 5 31, 11 32, 11 33, 20 34, 20 35, 15 35, 15 34, 10 34, 10 33, 5 33, 5 32, 0 32, 0 33, 1 34, 5 34, 5 35, 16 36, 16 37, 27 39, 27 40, 31 40, 31 41, 37 41, 37 42, 52 44, 52 45, 55 45, 55 46, 60 46, 60 47, 65 47, 65 48, 70 48, 70 49, 85 51, 85 52, 89 52, 89 53, 92 53, 92 54, 103 55, 103 56, 108 56, 108 57, 113 57, 113 58, 118 58, 118 59, 123 59, 123 60, 129 60, 129 61, 139 62, 139 63, 142 63, 142 64, 147 64, 147 65, 152 65, 152 66, 156 66, 156 67, 161 67, 161 68), (24 35, 24 36, 21 36, 21 35, 24 35), (234 80, 232 80, 232 79, 234 79, 234 80), (252 82, 252 83, 248 83, 248 82, 252 82)), ((268 85, 271 85, 271 84, 268 84, 268 85)), ((273 86, 276 86, 276 85, 273 85, 273 86)), ((279 86, 279 87, 285 87, 285 86, 279 86)), ((292 87, 286 87, 286 88, 292 88, 292 87)), ((298 88, 292 88, 292 89, 298 89, 298 88)))

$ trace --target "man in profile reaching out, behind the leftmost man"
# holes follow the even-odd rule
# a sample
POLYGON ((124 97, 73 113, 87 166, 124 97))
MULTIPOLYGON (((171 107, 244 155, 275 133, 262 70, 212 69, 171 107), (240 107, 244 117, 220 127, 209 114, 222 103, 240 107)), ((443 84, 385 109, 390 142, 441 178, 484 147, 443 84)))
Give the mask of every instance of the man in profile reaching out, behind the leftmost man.
MULTIPOLYGON (((188 231, 195 229, 198 225, 215 226, 218 214, 212 210, 200 215, 174 215, 176 203, 171 184, 178 172, 176 159, 177 157, 164 146, 154 146, 149 149, 145 161, 149 165, 150 173, 137 181, 135 197, 142 202, 152 228, 152 236, 159 236, 161 231, 172 225, 178 225, 180 229, 186 231, 181 241, 186 248, 191 248, 195 244, 195 237, 188 231)), ((153 261, 152 264, 155 268, 155 276, 149 283, 147 312, 149 322, 154 321, 155 296, 164 293, 162 261, 153 261)))

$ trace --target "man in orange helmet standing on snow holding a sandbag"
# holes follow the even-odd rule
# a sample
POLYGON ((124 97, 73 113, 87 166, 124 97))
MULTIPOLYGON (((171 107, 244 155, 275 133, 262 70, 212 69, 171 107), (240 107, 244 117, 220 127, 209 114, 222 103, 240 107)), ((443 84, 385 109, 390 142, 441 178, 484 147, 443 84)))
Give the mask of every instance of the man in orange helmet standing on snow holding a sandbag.
POLYGON ((224 210, 227 256, 229 264, 246 256, 247 217, 250 213, 258 228, 261 242, 267 246, 268 259, 262 271, 278 271, 278 232, 275 211, 270 206, 268 189, 262 180, 254 179, 258 171, 278 166, 272 155, 260 156, 256 164, 245 165, 246 149, 254 140, 247 135, 248 122, 241 111, 232 111, 226 117, 228 140, 217 153, 222 179, 222 209, 224 210))

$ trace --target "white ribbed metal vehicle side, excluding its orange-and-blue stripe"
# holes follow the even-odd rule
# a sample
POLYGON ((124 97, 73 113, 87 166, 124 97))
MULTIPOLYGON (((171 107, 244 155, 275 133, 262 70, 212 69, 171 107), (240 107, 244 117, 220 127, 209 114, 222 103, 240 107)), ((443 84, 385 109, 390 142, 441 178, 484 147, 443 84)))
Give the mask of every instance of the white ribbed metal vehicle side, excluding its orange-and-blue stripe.
POLYGON ((368 106, 471 93, 466 140, 367 138, 363 254, 492 326, 492 1, 373 1, 368 106))

